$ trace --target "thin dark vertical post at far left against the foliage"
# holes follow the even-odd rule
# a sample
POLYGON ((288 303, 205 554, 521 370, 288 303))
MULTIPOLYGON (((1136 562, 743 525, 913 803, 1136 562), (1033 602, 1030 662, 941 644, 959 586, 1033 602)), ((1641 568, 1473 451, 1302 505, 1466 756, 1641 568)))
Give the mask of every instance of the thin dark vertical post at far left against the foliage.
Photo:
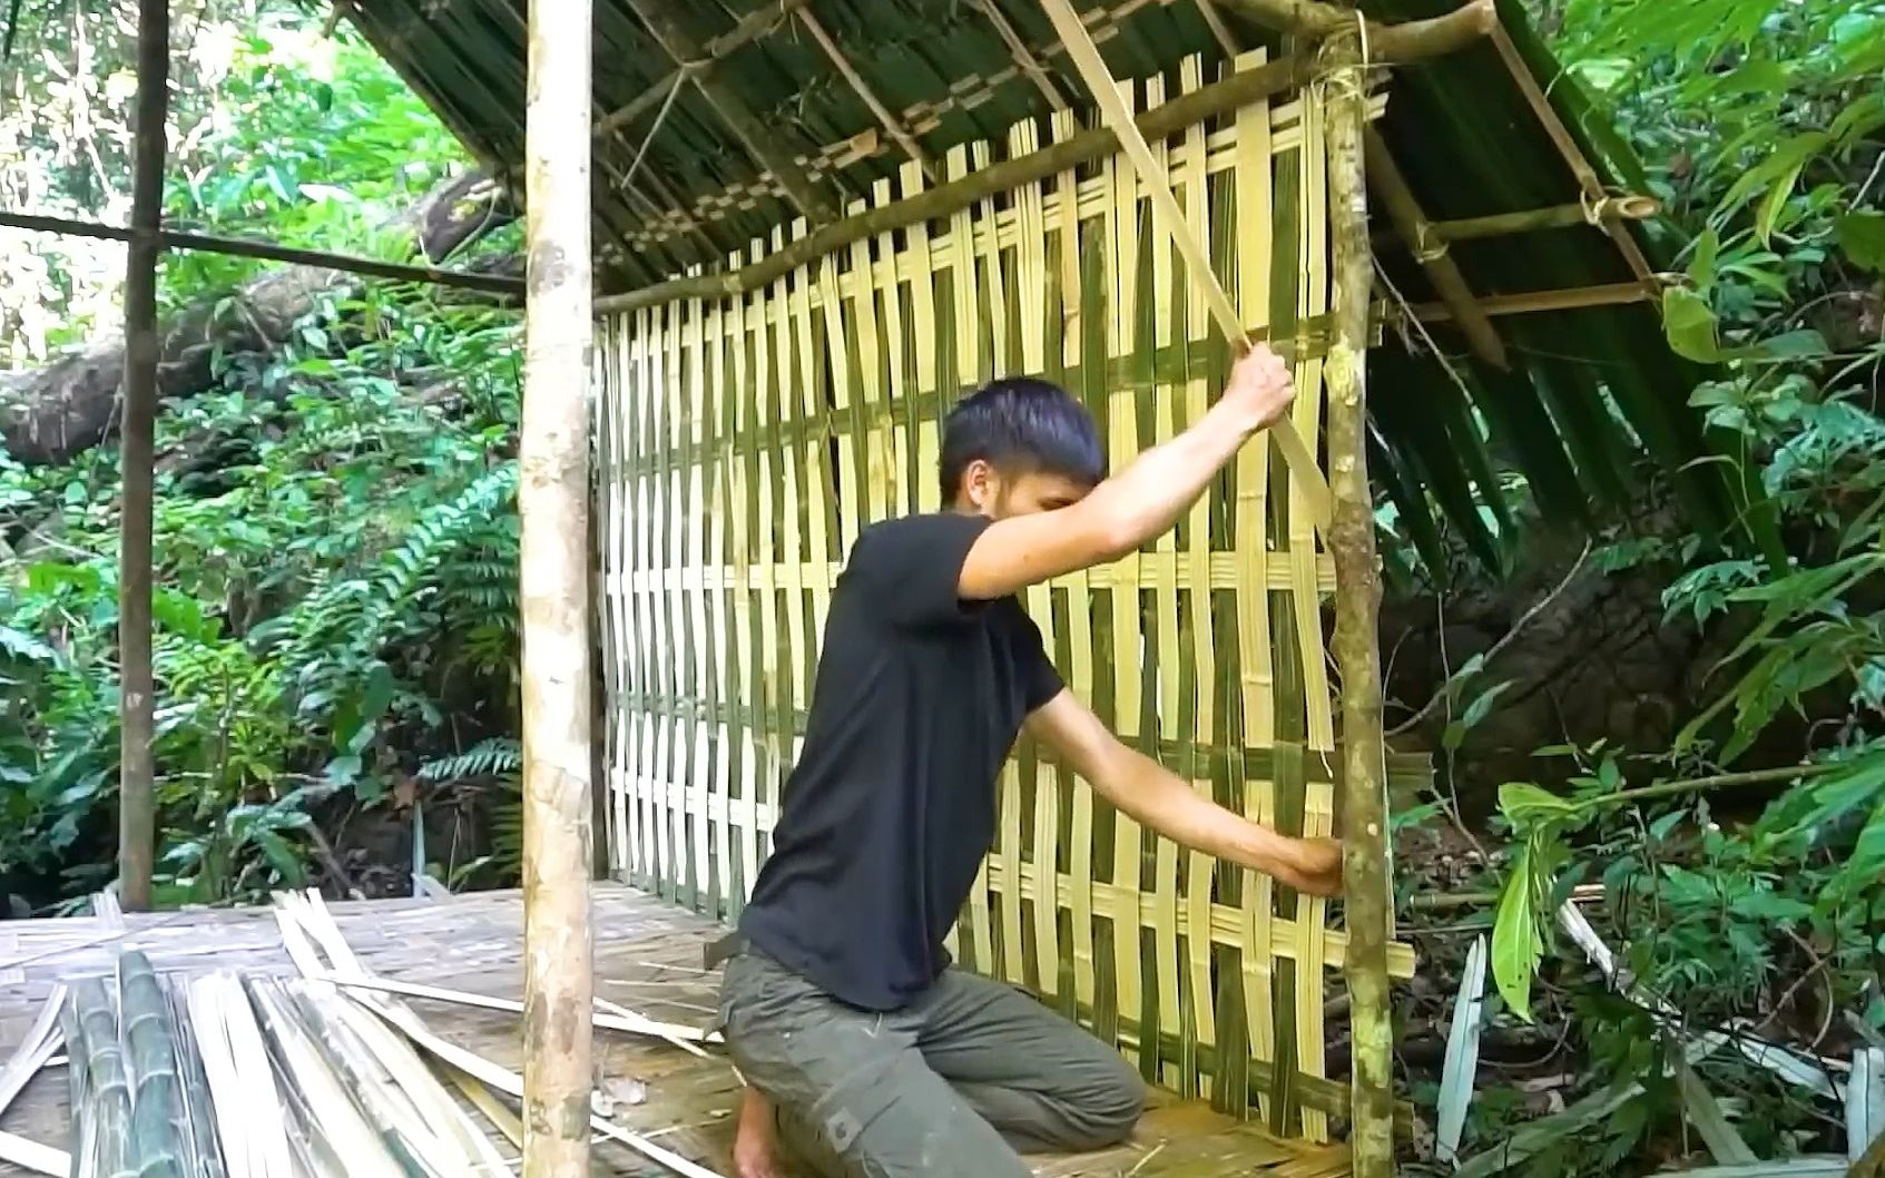
POLYGON ((151 756, 151 528, 156 432, 156 256, 164 221, 170 107, 170 0, 138 4, 138 106, 132 113, 130 249, 124 264, 124 418, 119 434, 119 899, 151 907, 156 801, 151 756))

